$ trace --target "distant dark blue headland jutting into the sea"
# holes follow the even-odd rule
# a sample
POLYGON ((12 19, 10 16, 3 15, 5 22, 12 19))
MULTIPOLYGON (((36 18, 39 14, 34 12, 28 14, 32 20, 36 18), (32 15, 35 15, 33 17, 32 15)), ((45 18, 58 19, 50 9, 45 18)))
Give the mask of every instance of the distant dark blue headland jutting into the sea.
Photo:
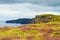
POLYGON ((6 23, 20 23, 20 24, 29 24, 32 23, 32 19, 22 18, 16 20, 8 20, 6 23))

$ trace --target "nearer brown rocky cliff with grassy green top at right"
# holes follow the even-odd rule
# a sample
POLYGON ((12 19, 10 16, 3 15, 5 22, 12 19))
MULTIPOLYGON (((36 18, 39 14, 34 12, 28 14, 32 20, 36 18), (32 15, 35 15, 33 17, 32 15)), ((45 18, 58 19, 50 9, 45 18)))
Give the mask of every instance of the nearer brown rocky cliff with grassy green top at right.
POLYGON ((52 14, 36 15, 34 19, 35 24, 49 23, 49 22, 60 22, 60 16, 52 14))

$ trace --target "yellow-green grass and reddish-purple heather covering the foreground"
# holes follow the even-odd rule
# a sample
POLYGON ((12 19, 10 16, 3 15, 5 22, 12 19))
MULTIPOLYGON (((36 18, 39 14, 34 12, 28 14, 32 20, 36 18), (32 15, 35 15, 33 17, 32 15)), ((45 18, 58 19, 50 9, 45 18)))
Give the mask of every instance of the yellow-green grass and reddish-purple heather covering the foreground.
POLYGON ((0 28, 0 40, 60 40, 60 18, 56 18, 47 23, 37 24, 35 20, 35 24, 0 28))

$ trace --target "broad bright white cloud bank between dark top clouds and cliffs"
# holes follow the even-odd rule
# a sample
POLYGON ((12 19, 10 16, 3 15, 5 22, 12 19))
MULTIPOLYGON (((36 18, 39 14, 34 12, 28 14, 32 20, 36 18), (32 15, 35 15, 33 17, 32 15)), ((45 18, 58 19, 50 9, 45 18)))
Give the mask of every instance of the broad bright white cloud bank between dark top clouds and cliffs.
POLYGON ((50 7, 32 3, 0 4, 0 20, 33 18, 37 14, 59 14, 60 6, 50 7))

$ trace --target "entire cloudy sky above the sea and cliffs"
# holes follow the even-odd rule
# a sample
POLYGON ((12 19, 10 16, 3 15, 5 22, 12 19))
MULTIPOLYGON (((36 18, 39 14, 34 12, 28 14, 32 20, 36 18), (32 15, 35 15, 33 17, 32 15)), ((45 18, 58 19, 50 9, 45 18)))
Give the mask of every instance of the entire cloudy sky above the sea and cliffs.
POLYGON ((60 15, 60 0, 0 0, 0 21, 39 14, 60 15))

